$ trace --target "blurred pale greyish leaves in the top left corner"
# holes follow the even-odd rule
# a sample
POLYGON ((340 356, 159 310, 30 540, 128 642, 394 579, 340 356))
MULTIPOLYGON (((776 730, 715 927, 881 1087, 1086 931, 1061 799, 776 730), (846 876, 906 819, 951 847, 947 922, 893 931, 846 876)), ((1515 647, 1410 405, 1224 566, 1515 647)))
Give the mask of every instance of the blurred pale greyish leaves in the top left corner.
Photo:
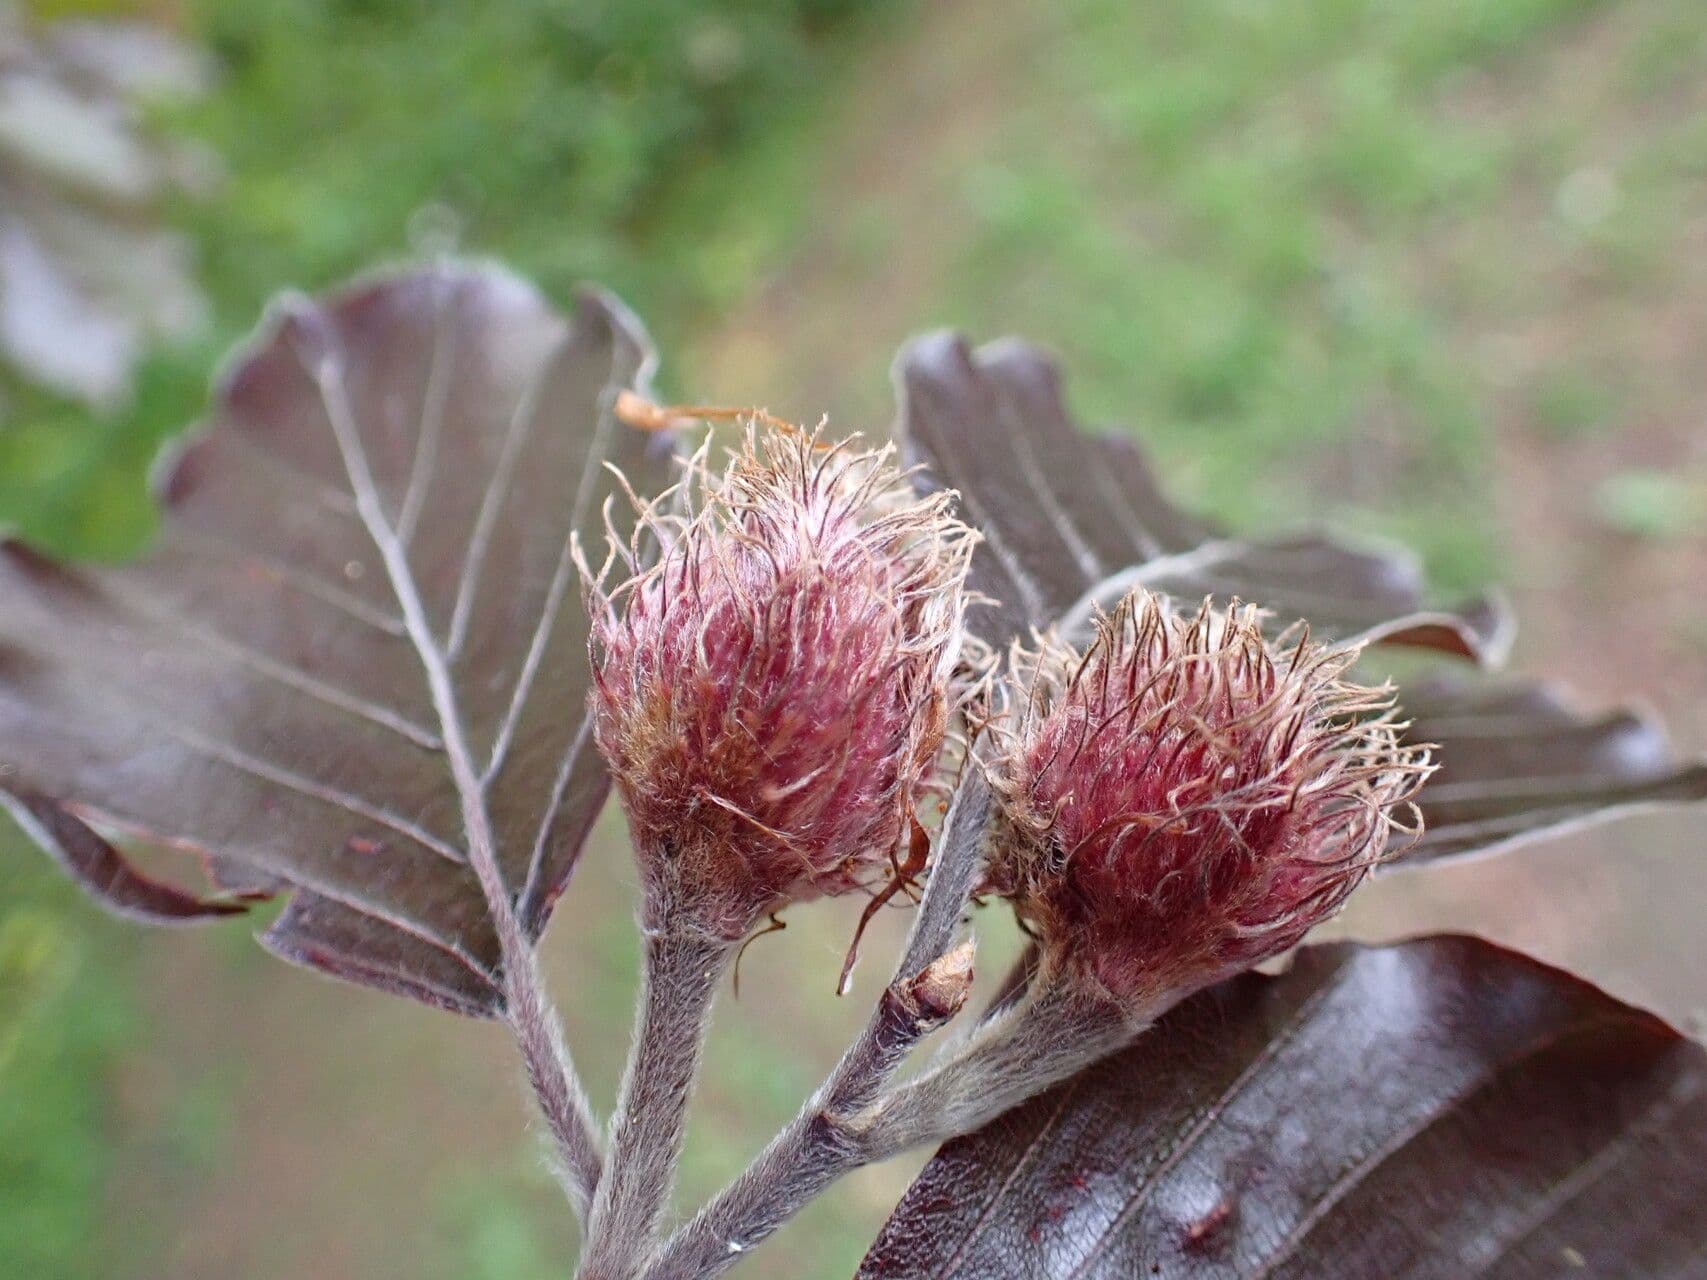
POLYGON ((201 324, 189 247, 160 208, 201 186, 203 166, 159 142, 140 104, 205 79, 157 27, 27 24, 0 3, 0 360, 14 375, 111 408, 147 345, 201 324))

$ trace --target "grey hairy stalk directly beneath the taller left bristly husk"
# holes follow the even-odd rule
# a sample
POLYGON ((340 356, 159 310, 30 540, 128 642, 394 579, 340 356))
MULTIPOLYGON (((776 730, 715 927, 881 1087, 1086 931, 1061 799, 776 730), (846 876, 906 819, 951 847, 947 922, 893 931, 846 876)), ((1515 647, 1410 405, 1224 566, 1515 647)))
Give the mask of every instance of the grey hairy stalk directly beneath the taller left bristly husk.
POLYGON ((647 934, 645 988, 628 1053, 611 1155, 587 1220, 582 1280, 628 1280, 657 1244, 686 1132, 688 1096, 717 981, 734 947, 666 925, 647 934))

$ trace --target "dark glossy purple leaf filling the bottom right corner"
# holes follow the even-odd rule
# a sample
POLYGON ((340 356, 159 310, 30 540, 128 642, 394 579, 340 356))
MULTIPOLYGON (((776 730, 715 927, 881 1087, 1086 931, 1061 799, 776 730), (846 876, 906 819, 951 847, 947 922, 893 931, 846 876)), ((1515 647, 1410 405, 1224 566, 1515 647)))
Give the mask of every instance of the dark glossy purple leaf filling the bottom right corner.
POLYGON ((862 1280, 1663 1277, 1707 1258, 1707 1051, 1463 937, 1308 947, 947 1143, 862 1280))

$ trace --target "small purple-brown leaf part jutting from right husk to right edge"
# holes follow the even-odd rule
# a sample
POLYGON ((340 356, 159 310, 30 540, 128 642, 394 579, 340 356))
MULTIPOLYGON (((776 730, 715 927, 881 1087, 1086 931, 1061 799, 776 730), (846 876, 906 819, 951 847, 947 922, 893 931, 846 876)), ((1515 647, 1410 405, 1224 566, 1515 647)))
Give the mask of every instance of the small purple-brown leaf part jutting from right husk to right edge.
POLYGON ((1572 710, 1538 681, 1407 688, 1408 736, 1441 770, 1417 797, 1422 840, 1396 862, 1487 853, 1628 809, 1707 800, 1707 761, 1678 759, 1651 715, 1572 710))

